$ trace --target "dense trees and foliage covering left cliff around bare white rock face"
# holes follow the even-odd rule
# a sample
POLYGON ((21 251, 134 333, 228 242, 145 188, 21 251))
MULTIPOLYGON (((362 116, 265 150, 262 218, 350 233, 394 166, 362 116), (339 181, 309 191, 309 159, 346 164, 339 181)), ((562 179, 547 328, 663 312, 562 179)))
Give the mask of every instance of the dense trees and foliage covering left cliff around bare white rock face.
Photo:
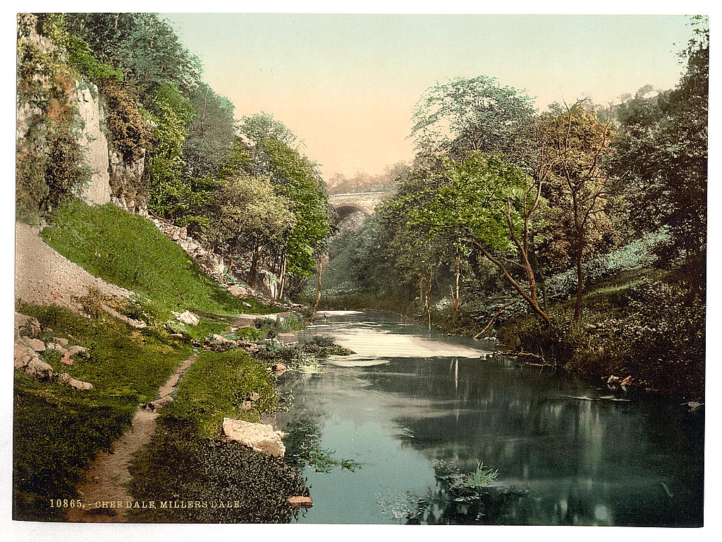
POLYGON ((90 176, 71 105, 82 79, 104 105, 121 203, 188 226, 233 281, 281 297, 313 272, 330 232, 318 166, 273 115, 244 116, 239 128, 168 21, 61 13, 19 22, 18 94, 29 117, 17 149, 19 217, 48 219, 90 176))

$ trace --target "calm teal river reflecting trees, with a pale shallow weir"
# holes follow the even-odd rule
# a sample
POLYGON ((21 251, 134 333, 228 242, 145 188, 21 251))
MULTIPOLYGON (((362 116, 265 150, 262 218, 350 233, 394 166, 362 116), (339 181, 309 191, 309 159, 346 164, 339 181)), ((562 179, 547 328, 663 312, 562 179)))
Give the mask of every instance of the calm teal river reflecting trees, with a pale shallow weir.
POLYGON ((702 523, 703 415, 681 401, 490 357, 494 344, 388 312, 327 312, 300 340, 313 335, 356 354, 285 378, 279 426, 361 466, 305 467, 314 505, 299 523, 702 523), (461 473, 482 461, 500 497, 453 501, 438 460, 461 473))

